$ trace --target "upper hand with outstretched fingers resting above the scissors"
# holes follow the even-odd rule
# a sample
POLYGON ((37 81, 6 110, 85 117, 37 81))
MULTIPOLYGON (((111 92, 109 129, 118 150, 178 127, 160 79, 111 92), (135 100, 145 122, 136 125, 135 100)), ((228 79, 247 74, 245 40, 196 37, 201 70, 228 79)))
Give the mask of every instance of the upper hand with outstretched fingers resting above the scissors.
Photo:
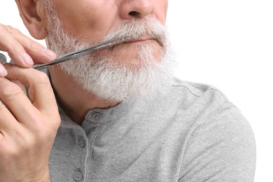
MULTIPOLYGON (((0 50, 8 52, 15 64, 29 68, 34 62, 50 62, 56 58, 55 52, 48 50, 23 35, 18 29, 0 24, 0 50)), ((0 64, 0 76, 6 75, 0 64)))

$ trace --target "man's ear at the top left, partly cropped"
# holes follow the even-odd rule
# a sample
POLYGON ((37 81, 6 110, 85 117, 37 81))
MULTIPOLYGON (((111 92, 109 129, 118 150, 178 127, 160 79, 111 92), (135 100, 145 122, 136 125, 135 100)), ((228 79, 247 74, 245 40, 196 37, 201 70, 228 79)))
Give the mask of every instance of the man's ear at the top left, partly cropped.
POLYGON ((44 39, 48 33, 45 29, 45 13, 41 0, 15 0, 20 12, 20 17, 31 36, 36 39, 44 39))

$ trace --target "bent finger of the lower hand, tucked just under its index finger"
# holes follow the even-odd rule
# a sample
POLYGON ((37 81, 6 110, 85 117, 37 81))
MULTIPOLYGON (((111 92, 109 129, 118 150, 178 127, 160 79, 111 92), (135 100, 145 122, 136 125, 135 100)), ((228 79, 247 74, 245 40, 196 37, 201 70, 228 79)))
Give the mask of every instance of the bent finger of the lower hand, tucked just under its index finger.
POLYGON ((2 107, 4 120, 10 120, 11 113, 20 123, 33 123, 33 120, 40 116, 40 112, 31 104, 27 95, 15 83, 10 82, 6 78, 0 78, 0 90, 0 99, 5 104, 5 107, 2 107), (5 108, 10 111, 10 114, 8 114, 5 108))

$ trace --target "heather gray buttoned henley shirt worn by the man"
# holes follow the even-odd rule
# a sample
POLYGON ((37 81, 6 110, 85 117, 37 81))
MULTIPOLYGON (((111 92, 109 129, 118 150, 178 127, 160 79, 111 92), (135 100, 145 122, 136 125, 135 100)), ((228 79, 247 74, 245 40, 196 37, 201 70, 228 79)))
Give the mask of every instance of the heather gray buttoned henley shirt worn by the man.
POLYGON ((255 139, 225 95, 174 78, 153 97, 92 109, 62 123, 51 181, 253 181, 255 139))

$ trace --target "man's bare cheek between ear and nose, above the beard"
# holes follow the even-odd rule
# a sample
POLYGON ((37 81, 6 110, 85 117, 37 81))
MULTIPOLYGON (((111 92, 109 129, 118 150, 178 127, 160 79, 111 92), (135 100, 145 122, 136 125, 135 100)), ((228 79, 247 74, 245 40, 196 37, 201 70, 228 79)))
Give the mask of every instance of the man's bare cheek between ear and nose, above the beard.
POLYGON ((104 1, 72 1, 65 7, 59 6, 58 12, 64 29, 69 34, 82 40, 91 38, 97 42, 112 26, 116 10, 112 3, 104 1))

